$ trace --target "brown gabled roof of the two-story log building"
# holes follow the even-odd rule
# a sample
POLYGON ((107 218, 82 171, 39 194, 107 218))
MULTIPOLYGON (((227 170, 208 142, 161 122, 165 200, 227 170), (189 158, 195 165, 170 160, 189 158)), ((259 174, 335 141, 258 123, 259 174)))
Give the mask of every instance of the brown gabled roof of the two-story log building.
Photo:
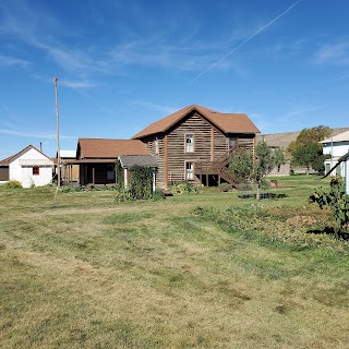
POLYGON ((261 132, 245 113, 222 113, 201 106, 192 105, 152 123, 135 134, 132 139, 143 139, 151 134, 164 133, 193 110, 198 111, 208 122, 221 130, 224 133, 261 132))

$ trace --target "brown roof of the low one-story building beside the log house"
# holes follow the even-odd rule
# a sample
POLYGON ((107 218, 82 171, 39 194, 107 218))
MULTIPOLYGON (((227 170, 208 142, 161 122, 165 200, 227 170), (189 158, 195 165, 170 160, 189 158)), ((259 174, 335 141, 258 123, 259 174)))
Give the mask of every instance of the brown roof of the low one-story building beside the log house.
POLYGON ((80 139, 80 158, 118 158, 119 155, 148 155, 146 145, 139 140, 80 139))

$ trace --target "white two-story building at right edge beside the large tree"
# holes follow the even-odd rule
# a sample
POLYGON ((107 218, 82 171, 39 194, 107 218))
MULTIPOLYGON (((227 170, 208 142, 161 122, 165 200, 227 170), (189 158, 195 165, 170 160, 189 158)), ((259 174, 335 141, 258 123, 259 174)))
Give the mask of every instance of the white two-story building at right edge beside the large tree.
MULTIPOLYGON (((323 144, 323 154, 330 155, 330 158, 325 160, 325 173, 327 173, 333 167, 338 164, 339 158, 341 158, 349 152, 349 131, 334 135, 320 143, 323 144)), ((345 164, 346 161, 340 161, 340 164, 336 166, 336 171, 332 171, 332 176, 337 174, 346 177, 345 164)))

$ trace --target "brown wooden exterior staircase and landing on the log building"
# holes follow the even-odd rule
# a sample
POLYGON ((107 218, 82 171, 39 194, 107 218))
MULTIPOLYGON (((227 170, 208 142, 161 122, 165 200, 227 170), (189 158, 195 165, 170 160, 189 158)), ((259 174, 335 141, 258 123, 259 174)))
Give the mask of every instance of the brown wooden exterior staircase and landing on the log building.
POLYGON ((240 181, 233 174, 233 172, 228 168, 229 161, 233 154, 242 149, 251 149, 253 151, 252 146, 239 146, 236 145, 227 151, 224 155, 221 155, 215 161, 201 161, 195 163, 194 172, 200 178, 202 176, 218 176, 219 182, 224 180, 234 186, 237 190, 240 189, 240 181))

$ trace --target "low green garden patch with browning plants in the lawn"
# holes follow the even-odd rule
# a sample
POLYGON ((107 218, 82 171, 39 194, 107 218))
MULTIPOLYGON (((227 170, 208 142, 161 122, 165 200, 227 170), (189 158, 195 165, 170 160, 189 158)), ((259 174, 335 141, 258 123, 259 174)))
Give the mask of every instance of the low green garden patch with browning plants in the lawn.
POLYGON ((227 231, 246 240, 258 240, 263 244, 284 245, 300 251, 324 246, 329 250, 349 252, 347 242, 336 236, 316 233, 328 224, 328 216, 317 216, 309 207, 269 208, 262 205, 243 205, 217 209, 196 207, 194 213, 209 221, 215 221, 227 231), (312 233, 314 231, 314 233, 312 233))

